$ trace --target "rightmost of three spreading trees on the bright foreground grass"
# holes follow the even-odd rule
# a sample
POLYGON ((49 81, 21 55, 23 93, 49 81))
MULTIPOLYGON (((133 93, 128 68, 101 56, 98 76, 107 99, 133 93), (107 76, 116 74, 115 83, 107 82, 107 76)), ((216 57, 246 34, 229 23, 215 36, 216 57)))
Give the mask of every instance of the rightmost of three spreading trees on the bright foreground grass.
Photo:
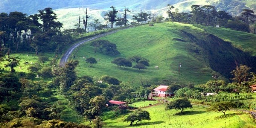
POLYGON ((222 102, 215 102, 209 108, 208 111, 221 111, 224 115, 227 110, 231 108, 236 108, 236 105, 230 101, 222 101, 222 102))

